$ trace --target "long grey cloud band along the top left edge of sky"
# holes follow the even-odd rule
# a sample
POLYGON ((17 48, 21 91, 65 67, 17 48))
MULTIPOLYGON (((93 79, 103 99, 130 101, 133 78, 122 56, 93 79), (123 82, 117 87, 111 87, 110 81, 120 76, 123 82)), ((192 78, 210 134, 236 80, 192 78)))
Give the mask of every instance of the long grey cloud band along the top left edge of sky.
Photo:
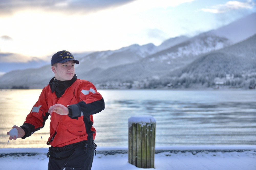
POLYGON ((1 0, 0 16, 11 15, 20 10, 42 9, 61 13, 90 13, 104 8, 121 6, 135 0, 1 0))

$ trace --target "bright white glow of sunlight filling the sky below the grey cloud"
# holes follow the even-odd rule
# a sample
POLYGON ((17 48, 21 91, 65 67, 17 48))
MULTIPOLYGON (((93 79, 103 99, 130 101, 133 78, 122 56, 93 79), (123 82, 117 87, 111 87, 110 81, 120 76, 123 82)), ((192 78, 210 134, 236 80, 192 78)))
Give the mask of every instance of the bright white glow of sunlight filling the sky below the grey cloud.
MULTIPOLYGON (((146 44, 149 42, 145 31, 157 28, 152 20, 143 18, 144 11, 190 1, 193 0, 140 0, 87 15, 65 15, 38 9, 20 11, 1 19, 1 23, 6 25, 2 33, 13 40, 1 42, 1 51, 44 57, 63 49, 114 50, 134 42, 146 44)), ((168 38, 168 34, 165 35, 168 38)))

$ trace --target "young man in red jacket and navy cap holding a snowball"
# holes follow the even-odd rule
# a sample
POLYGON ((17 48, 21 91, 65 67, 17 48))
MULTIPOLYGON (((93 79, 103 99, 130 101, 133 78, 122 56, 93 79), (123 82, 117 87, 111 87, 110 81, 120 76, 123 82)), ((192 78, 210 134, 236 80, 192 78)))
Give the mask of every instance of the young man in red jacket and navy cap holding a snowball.
POLYGON ((87 170, 92 166, 96 135, 92 115, 102 111, 105 104, 91 82, 77 79, 75 64, 79 61, 68 51, 58 51, 52 56, 51 70, 55 77, 42 90, 24 124, 13 126, 18 136, 9 137, 10 140, 29 137, 44 127, 50 115, 48 170, 87 170))

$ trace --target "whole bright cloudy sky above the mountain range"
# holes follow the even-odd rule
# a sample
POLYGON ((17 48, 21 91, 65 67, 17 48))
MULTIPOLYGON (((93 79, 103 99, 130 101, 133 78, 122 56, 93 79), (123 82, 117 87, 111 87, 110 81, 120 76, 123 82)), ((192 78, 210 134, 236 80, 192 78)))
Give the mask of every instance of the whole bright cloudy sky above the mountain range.
POLYGON ((158 46, 253 12, 256 0, 1 0, 0 62, 49 60, 61 50, 158 46))

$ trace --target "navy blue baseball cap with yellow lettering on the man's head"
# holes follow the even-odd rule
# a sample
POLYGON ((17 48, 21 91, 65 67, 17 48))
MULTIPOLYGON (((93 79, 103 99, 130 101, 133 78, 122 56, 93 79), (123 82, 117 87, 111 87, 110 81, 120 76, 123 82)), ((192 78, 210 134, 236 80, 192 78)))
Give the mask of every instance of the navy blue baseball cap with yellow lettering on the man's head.
POLYGON ((73 60, 74 63, 79 64, 79 61, 74 59, 74 56, 66 50, 58 51, 51 58, 51 66, 57 62, 63 63, 69 60, 73 60))

